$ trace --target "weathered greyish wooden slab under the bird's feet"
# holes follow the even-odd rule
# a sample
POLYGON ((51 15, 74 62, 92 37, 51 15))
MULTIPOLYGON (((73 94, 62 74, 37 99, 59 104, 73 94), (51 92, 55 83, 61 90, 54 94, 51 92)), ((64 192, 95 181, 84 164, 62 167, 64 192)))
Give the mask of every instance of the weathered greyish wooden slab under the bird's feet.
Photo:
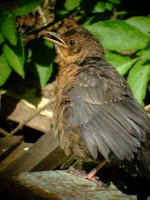
POLYGON ((113 184, 99 184, 65 171, 22 173, 13 177, 11 200, 136 200, 136 195, 120 192, 113 184))

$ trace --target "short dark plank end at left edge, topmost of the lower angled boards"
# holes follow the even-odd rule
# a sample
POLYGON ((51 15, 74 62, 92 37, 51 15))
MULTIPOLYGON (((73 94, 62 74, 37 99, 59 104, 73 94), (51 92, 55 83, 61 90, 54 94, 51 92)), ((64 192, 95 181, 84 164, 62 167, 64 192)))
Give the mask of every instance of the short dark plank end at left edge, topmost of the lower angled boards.
POLYGON ((4 137, 0 139, 0 160, 4 159, 22 141, 23 136, 4 137))

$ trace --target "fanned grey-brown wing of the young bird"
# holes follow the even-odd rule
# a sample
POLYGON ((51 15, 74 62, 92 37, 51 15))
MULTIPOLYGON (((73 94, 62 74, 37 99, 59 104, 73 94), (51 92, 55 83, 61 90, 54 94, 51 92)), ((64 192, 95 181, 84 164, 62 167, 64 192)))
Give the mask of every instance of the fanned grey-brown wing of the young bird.
POLYGON ((93 158, 99 151, 107 160, 112 152, 131 160, 150 131, 149 119, 130 97, 125 80, 109 66, 106 71, 90 68, 78 74, 68 92, 73 102, 69 122, 77 124, 93 158))

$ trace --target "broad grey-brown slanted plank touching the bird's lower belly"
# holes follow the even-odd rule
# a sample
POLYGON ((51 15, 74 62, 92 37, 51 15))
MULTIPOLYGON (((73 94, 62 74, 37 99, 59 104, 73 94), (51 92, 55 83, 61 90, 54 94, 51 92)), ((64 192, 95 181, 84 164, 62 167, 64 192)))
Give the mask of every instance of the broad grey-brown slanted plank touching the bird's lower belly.
POLYGON ((25 154, 0 172, 1 179, 20 172, 54 169, 67 160, 58 138, 44 134, 25 154))

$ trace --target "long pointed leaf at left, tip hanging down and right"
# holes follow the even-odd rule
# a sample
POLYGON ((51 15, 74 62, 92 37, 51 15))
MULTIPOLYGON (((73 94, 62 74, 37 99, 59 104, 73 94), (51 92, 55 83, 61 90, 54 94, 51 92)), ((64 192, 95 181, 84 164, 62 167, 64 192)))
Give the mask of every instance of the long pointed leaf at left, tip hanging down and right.
POLYGON ((20 51, 20 44, 12 46, 9 44, 3 45, 3 53, 7 59, 9 65, 22 77, 24 78, 24 59, 23 52, 20 51))

